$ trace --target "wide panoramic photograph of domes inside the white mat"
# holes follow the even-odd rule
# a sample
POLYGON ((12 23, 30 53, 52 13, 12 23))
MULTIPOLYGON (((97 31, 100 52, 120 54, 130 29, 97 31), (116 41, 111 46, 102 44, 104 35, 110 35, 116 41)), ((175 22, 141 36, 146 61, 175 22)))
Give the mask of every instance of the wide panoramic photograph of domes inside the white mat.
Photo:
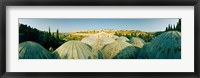
POLYGON ((181 18, 19 18, 19 59, 181 59, 181 18))

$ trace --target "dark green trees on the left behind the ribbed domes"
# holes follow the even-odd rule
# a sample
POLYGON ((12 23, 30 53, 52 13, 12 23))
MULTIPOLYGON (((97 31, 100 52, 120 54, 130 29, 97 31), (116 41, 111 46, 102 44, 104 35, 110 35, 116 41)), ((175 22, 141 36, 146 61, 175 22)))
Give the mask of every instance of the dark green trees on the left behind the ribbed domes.
POLYGON ((52 33, 49 31, 40 31, 25 24, 19 24, 19 43, 24 41, 34 41, 41 44, 47 50, 53 51, 62 45, 65 41, 59 37, 59 30, 52 33))

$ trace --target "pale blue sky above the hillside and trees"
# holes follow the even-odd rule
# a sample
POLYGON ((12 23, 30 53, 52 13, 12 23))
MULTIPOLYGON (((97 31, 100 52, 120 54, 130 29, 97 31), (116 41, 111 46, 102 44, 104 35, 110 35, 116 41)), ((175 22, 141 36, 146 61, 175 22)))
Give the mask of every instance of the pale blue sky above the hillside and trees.
POLYGON ((19 23, 27 24, 42 31, 76 32, 83 30, 117 29, 141 30, 146 32, 164 31, 168 24, 176 24, 177 18, 19 18, 19 23))

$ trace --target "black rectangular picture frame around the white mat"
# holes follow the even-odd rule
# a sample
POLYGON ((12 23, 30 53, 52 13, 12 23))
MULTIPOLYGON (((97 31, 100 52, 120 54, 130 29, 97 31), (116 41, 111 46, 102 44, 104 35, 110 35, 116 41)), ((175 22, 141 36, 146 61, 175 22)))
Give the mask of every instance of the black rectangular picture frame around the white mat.
MULTIPOLYGON (((2 78, 200 78, 199 0, 0 0, 0 76, 2 78), (194 6, 194 72, 6 72, 6 6, 194 6)), ((16 66, 17 67, 17 66, 16 66)))

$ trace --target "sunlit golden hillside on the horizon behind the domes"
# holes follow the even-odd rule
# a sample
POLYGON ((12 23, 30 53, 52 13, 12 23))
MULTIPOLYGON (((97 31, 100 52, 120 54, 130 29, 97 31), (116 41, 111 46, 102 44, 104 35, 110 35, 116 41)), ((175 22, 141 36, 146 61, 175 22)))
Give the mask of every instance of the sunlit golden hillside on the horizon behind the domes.
POLYGON ((146 42, 149 42, 151 39, 155 38, 157 35, 161 34, 163 31, 160 32, 144 32, 140 30, 87 30, 87 31, 79 31, 79 32, 72 32, 72 33, 61 33, 60 36, 66 41, 69 40, 81 40, 84 37, 88 37, 90 35, 94 35, 100 32, 105 32, 108 34, 116 35, 116 36, 125 36, 128 39, 132 37, 140 37, 146 42))

